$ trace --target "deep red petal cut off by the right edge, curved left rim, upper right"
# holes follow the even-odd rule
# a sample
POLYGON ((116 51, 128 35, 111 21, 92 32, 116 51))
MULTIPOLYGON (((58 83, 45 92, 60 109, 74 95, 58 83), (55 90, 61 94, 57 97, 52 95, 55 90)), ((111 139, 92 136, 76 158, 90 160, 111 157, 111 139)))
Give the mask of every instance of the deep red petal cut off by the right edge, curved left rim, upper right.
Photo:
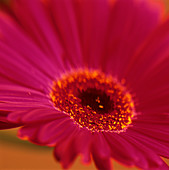
POLYGON ((152 77, 155 76, 156 73, 161 72, 163 69, 165 70, 163 74, 167 74, 168 70, 166 69, 166 66, 168 64, 165 65, 165 63, 168 63, 168 28, 169 20, 161 24, 153 32, 148 41, 144 44, 143 48, 141 48, 140 51, 137 53, 138 56, 134 56, 132 63, 133 67, 130 67, 130 69, 132 70, 130 70, 130 75, 128 75, 128 77, 133 78, 133 82, 135 82, 135 88, 139 88, 140 85, 147 90, 150 85, 154 85, 156 87, 154 81, 156 81, 158 85, 158 83, 161 83, 159 79, 164 79, 164 77, 159 76, 158 79, 152 79, 152 77), (142 70, 138 70, 138 65, 139 68, 142 68, 142 70), (139 79, 137 79, 137 76, 139 76, 139 79), (135 81, 136 79, 137 81, 135 81), (145 82, 145 80, 147 81, 146 85, 143 83, 145 82))

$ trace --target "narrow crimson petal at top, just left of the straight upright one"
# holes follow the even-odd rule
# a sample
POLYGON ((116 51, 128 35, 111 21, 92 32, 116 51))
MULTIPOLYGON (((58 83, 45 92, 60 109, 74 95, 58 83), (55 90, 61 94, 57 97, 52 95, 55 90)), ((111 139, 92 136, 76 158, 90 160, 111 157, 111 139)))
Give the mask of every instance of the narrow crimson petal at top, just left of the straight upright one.
POLYGON ((68 60, 73 67, 82 67, 81 43, 76 21, 77 14, 74 11, 73 2, 51 0, 49 6, 51 16, 54 19, 54 27, 57 28, 60 43, 64 48, 64 60, 68 60))

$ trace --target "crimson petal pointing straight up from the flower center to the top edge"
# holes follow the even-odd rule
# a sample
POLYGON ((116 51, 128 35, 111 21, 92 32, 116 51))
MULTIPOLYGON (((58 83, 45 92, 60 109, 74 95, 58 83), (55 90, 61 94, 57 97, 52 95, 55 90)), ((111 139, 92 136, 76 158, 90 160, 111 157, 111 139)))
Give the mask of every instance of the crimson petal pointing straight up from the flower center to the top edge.
POLYGON ((109 3, 102 0, 74 1, 74 7, 84 63, 88 67, 98 68, 107 45, 109 3))

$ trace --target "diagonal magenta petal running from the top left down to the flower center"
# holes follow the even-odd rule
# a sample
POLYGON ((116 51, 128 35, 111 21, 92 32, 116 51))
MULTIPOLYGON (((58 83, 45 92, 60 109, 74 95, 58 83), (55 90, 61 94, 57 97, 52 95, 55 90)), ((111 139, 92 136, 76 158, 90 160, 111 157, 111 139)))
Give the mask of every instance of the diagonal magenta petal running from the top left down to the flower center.
MULTIPOLYGON (((51 59, 52 63, 63 69, 62 47, 51 25, 51 18, 48 18, 46 6, 38 0, 12 1, 13 11, 20 21, 24 31, 36 42, 36 44, 51 59), (22 8, 20 8, 20 5, 22 8)), ((48 58, 46 57, 46 58, 48 58)))

